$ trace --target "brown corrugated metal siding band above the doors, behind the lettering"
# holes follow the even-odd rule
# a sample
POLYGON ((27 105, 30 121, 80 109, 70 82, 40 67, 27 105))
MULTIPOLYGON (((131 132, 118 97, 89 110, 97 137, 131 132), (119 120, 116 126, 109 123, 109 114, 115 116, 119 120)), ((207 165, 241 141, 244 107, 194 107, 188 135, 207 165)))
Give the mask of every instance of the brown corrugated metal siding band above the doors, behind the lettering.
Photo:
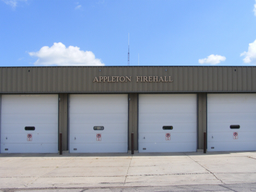
POLYGON ((256 67, 0 67, 0 93, 255 92, 256 67), (131 76, 131 82, 93 82, 131 76), (136 82, 137 76, 171 76, 173 82, 136 82))

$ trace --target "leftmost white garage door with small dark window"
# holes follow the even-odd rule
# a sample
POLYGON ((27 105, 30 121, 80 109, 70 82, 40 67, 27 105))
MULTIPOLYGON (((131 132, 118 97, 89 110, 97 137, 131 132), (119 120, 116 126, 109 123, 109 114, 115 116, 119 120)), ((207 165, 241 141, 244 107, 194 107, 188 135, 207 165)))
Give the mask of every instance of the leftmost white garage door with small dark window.
POLYGON ((58 95, 2 95, 1 153, 58 153, 58 95))

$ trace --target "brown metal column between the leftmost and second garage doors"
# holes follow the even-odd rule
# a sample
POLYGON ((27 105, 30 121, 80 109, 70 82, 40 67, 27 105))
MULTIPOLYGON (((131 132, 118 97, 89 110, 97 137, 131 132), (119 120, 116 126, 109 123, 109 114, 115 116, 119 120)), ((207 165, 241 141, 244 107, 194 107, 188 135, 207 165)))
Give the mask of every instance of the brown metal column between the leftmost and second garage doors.
POLYGON ((68 150, 68 94, 59 94, 59 133, 62 133, 62 150, 68 150))

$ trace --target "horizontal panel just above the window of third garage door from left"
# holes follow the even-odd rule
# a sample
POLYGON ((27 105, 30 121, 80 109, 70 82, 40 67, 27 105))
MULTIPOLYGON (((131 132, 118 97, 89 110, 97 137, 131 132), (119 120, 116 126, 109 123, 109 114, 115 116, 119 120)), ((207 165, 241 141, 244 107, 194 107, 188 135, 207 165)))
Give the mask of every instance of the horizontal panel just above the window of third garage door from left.
POLYGON ((143 115, 139 118, 139 123, 155 123, 155 119, 161 122, 179 123, 186 119, 187 122, 196 123, 195 114, 193 113, 161 113, 143 115))

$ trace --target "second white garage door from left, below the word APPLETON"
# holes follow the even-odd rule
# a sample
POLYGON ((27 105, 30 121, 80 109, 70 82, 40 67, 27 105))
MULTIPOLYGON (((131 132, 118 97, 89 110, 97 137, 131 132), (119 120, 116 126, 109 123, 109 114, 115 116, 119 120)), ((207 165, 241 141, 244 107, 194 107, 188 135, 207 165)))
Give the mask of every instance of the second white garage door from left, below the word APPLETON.
POLYGON ((70 96, 70 153, 127 153, 127 137, 127 95, 70 96))

